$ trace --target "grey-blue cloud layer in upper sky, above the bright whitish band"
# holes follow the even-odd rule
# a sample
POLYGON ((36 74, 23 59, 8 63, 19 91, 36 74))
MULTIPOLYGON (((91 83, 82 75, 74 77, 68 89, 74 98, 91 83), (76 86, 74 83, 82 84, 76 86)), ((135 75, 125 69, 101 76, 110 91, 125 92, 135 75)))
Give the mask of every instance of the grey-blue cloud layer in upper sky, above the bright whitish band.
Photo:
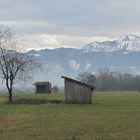
POLYGON ((116 37, 140 34, 139 5, 139 0, 5 0, 0 21, 19 33, 116 37))

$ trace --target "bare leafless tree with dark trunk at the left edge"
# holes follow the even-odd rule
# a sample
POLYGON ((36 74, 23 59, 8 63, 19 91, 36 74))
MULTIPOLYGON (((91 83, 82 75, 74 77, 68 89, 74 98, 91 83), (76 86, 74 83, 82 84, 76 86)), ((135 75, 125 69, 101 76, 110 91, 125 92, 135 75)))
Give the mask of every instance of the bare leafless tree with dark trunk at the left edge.
POLYGON ((0 74, 12 102, 13 85, 16 80, 29 78, 29 71, 37 67, 33 56, 17 51, 17 43, 9 27, 0 26, 0 74))

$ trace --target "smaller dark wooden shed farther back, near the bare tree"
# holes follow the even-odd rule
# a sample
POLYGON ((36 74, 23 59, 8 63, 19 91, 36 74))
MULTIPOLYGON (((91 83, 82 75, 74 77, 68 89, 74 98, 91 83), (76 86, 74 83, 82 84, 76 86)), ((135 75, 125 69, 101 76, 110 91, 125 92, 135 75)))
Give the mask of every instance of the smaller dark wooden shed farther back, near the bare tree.
POLYGON ((52 86, 51 83, 46 81, 46 82, 36 82, 34 83, 36 86, 36 91, 35 93, 51 93, 52 86))

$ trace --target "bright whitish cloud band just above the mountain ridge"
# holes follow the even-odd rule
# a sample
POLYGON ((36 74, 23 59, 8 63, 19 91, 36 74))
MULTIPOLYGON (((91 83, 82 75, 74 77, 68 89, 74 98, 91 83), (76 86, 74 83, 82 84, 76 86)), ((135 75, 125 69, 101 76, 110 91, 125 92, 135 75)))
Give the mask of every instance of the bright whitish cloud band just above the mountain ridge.
POLYGON ((52 35, 52 34, 24 34, 17 35, 19 45, 25 50, 54 49, 54 48, 82 48, 93 42, 108 40, 106 37, 52 35))

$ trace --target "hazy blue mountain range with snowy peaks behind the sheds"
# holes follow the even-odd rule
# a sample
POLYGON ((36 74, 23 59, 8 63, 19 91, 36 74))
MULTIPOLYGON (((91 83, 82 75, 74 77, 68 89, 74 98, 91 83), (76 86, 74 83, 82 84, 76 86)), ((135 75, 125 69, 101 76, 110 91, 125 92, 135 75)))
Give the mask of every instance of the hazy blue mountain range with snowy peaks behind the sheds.
POLYGON ((140 73, 140 37, 132 34, 112 41, 92 42, 81 49, 44 49, 27 53, 42 63, 35 81, 48 80, 58 86, 63 85, 61 75, 75 78, 83 72, 96 73, 99 68, 140 73))

